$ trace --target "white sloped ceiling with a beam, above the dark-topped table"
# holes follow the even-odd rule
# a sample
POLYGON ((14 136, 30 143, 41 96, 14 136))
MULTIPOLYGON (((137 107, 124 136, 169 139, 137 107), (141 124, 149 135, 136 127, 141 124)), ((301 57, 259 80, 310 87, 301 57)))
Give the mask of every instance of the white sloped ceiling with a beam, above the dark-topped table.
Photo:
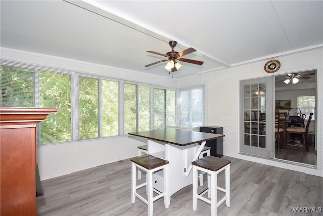
MULTIPOLYGON (((169 76, 165 57, 184 58, 174 78, 323 46, 323 1, 0 1, 1 47, 169 76)), ((260 68, 259 68, 260 69, 260 68)), ((263 70, 263 68, 261 68, 263 70)))

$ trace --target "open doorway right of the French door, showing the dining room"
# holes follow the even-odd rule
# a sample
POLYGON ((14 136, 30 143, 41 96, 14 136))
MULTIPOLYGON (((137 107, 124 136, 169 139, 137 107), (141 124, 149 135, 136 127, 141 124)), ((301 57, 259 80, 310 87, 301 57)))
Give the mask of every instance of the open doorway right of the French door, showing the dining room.
POLYGON ((277 159, 316 165, 316 72, 312 70, 275 76, 275 109, 282 116, 286 114, 286 117, 283 117, 286 119, 286 122, 283 122, 285 127, 296 127, 287 129, 290 133, 286 133, 286 128, 284 128, 283 145, 275 148, 277 159), (311 119, 309 119, 310 113, 313 113, 311 119), (308 122, 309 125, 307 125, 308 122), (295 131, 305 131, 305 133, 292 133, 295 131), (307 141, 308 152, 305 141, 307 141))

